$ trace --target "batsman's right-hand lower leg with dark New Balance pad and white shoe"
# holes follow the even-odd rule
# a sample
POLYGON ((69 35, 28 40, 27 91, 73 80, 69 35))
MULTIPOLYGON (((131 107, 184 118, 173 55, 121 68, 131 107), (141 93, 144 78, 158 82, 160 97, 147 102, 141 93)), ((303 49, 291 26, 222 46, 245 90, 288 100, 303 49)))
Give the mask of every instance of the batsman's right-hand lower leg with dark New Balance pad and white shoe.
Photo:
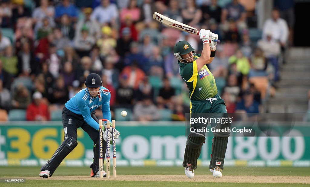
MULTIPOLYGON (((224 117, 228 118, 228 117, 224 117)), ((231 123, 218 123, 215 128, 216 129, 224 129, 224 128, 230 128, 231 123)), ((230 135, 230 131, 228 132, 222 132, 219 131, 219 133, 214 132, 214 138, 212 143, 212 154, 211 154, 211 160, 210 160, 210 171, 213 172, 213 176, 215 177, 221 177, 222 173, 221 170, 224 169, 224 159, 225 159, 225 153, 227 149, 227 143, 228 143, 228 137, 230 135)))

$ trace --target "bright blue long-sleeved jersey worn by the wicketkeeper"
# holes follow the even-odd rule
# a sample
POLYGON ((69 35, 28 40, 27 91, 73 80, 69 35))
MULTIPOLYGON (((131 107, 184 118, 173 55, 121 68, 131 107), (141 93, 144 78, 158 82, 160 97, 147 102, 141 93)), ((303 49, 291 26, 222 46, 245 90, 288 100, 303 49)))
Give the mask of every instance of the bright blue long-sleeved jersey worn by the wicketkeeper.
POLYGON ((78 115, 82 115, 85 122, 96 130, 99 129, 99 124, 91 117, 91 112, 100 107, 100 105, 102 105, 103 118, 111 121, 111 94, 109 92, 103 91, 104 89, 107 90, 103 86, 101 86, 101 89, 101 94, 96 98, 88 97, 85 89, 82 89, 64 105, 69 111, 72 111, 78 115))

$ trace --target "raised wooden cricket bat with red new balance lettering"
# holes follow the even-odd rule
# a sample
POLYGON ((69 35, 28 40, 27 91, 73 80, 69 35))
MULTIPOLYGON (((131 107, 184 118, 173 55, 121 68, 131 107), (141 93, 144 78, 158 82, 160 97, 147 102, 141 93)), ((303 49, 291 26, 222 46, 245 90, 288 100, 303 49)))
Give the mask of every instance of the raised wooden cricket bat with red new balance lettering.
MULTIPOLYGON (((167 16, 164 16, 162 14, 159 14, 158 12, 154 12, 153 19, 157 20, 159 23, 178 29, 180 31, 199 35, 199 31, 197 28, 191 27, 179 21, 172 20, 171 18, 168 18, 167 16)), ((214 41, 217 43, 221 42, 220 40, 216 40, 216 39, 214 41)))

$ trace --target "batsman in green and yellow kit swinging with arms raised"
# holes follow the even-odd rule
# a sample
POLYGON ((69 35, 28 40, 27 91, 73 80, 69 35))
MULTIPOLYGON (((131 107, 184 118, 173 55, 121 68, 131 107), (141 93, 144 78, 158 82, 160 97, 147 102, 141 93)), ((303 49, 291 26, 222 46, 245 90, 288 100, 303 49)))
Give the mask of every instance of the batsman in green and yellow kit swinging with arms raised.
MULTIPOLYGON (((193 47, 187 41, 179 41, 174 46, 174 55, 178 59, 180 76, 189 89, 190 116, 198 113, 218 113, 220 118, 228 118, 224 100, 217 94, 215 79, 206 64, 212 62, 215 57, 218 35, 210 30, 201 29, 199 36, 203 42, 201 54, 196 54, 193 47)), ((227 121, 221 119, 221 121, 227 121)), ((230 123, 211 123, 215 128, 230 128, 230 123)), ((192 127, 192 126, 191 126, 192 127)), ((210 171, 215 177, 222 177, 224 158, 227 148, 229 133, 214 133, 210 171)), ((189 133, 184 152, 183 167, 188 178, 195 176, 197 159, 201 153, 201 147, 205 142, 205 133, 189 133)))

